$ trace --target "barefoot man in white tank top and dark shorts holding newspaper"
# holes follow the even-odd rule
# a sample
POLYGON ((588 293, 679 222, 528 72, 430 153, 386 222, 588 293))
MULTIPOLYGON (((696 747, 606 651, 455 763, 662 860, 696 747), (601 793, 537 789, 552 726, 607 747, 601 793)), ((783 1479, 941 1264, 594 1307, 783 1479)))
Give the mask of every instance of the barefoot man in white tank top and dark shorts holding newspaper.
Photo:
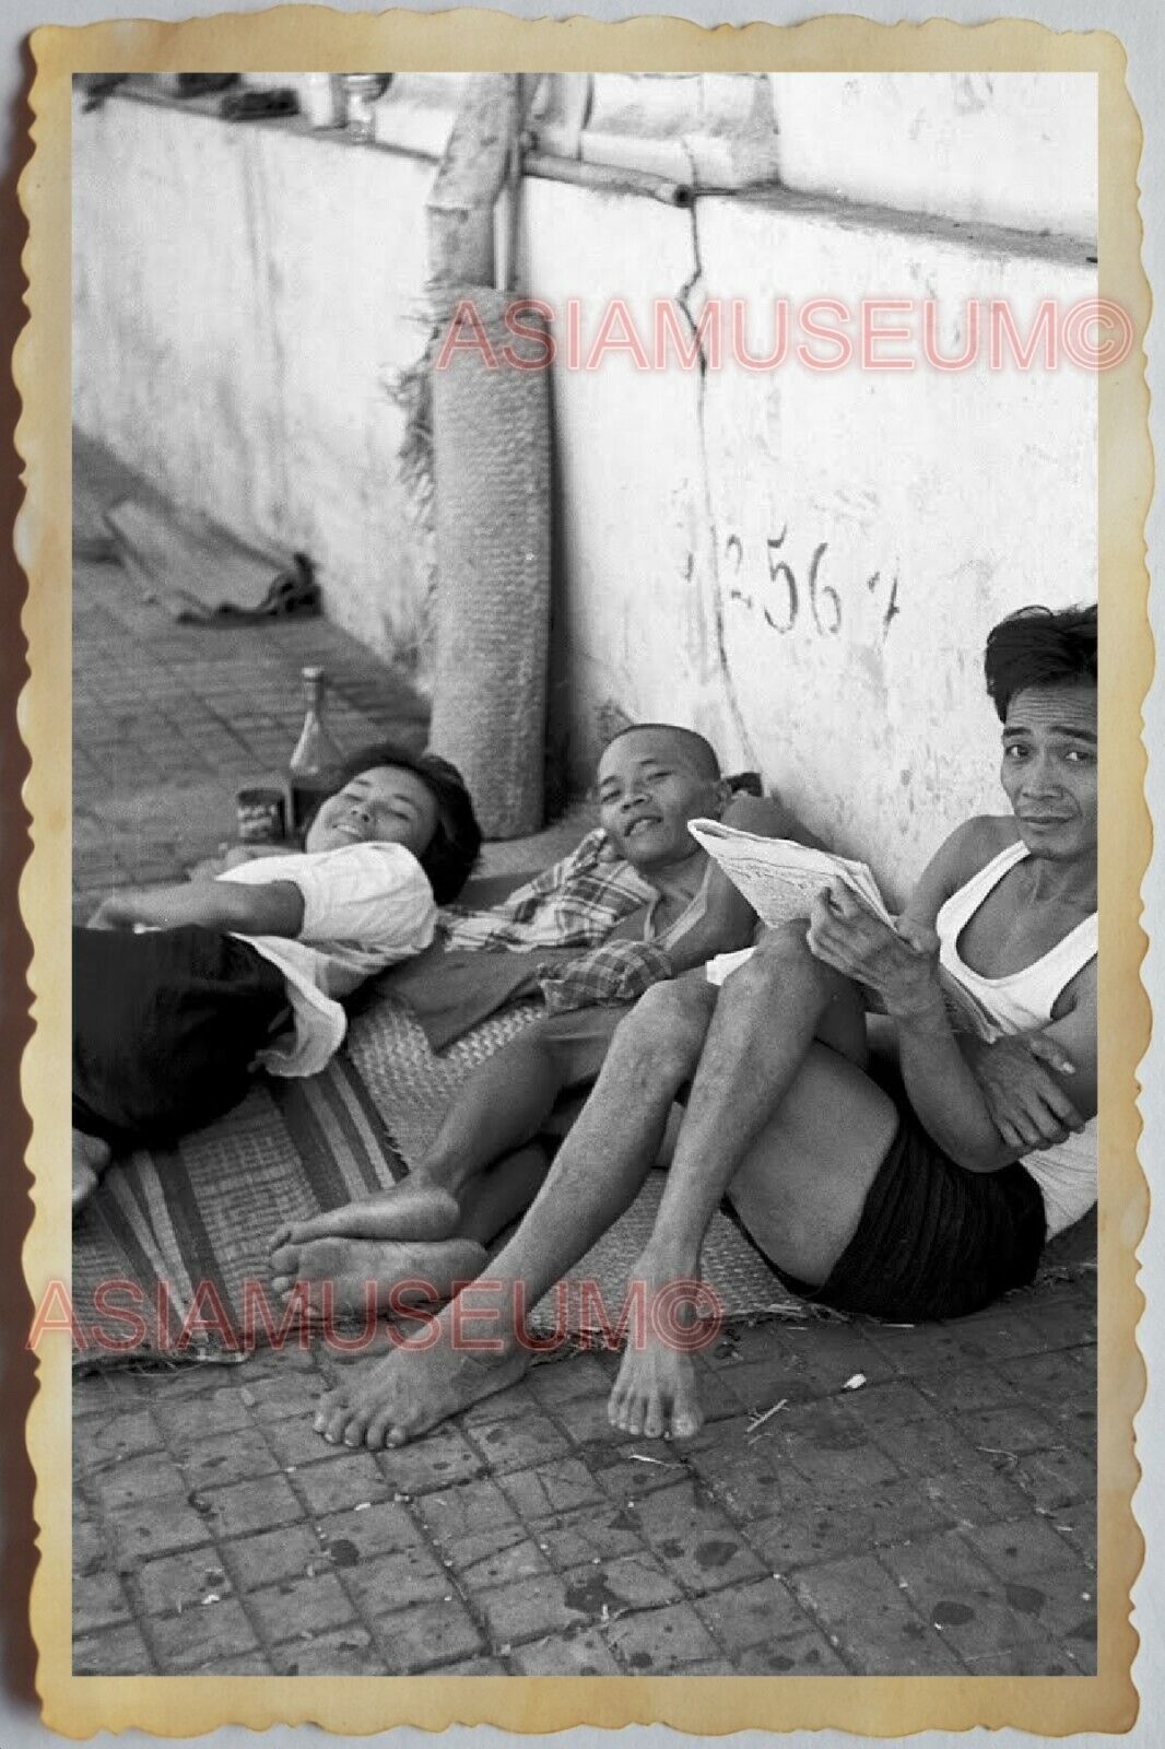
MULTIPOLYGON (((672 1312, 677 1287, 694 1291, 724 1193, 778 1273, 843 1310, 950 1317, 1032 1279, 1064 1216, 1060 1172, 1044 1189, 1039 1161, 1097 1109, 1095 607, 1011 616, 985 666, 1011 812, 960 826, 896 927, 838 887, 808 929, 766 932, 722 990, 701 978, 649 990, 492 1259, 488 1310, 478 1284, 423 1354, 353 1369, 317 1417, 327 1439, 399 1445, 521 1376, 520 1308, 630 1205, 689 1079, 654 1233, 631 1270, 672 1312), (862 990, 896 1023, 901 1095, 864 1072, 862 990), (464 1340, 474 1317, 492 1352, 464 1340)), ((1095 1161, 1074 1196, 1095 1196, 1095 1161)), ((631 1434, 694 1432, 691 1355, 654 1334, 630 1347, 609 1417, 631 1434)))

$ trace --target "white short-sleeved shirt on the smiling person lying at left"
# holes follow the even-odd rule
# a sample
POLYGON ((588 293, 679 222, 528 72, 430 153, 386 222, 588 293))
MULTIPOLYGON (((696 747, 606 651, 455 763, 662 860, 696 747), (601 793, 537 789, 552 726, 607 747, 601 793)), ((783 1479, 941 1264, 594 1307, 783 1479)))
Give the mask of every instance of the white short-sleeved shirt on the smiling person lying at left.
POLYGON ((303 894, 297 936, 240 936, 287 981, 294 1030, 259 1053, 273 1076, 315 1076, 339 1049, 350 995, 385 965, 420 953, 434 937, 432 887, 404 845, 343 845, 292 852, 227 869, 219 880, 261 887, 292 881, 303 894))

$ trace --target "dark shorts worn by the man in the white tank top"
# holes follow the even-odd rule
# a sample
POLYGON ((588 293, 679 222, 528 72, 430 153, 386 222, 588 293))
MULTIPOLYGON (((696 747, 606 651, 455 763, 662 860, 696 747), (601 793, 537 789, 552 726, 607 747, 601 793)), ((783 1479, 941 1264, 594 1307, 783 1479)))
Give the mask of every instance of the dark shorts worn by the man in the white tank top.
POLYGON ((1025 1287, 1044 1238, 1044 1198, 1030 1172, 967 1172, 904 1112, 829 1279, 806 1287, 777 1275, 803 1300, 838 1312, 910 1324, 966 1317, 1025 1287))

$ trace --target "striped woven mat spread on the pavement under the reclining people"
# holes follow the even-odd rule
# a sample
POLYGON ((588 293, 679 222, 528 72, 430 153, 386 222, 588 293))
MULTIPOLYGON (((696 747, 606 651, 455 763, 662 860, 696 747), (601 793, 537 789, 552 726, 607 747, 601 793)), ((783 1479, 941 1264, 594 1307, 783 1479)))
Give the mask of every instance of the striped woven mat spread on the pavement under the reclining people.
MULTIPOLYGON (((401 1181, 464 1076, 535 1014, 534 1006, 511 1009, 436 1056, 402 1004, 369 1002, 324 1074, 259 1079, 227 1118, 171 1151, 136 1153, 114 1167, 73 1226, 77 1364, 226 1361, 278 1340, 283 1308, 268 1284, 271 1233, 401 1181)), ((607 1308, 623 1303, 661 1182, 652 1172, 574 1272, 596 1282, 607 1308)), ((726 1216, 712 1221, 703 1263, 733 1317, 799 1310, 726 1216)), ((562 1327, 562 1303, 551 1293, 532 1326, 562 1327)), ((593 1317, 577 1296, 569 1305, 567 1333, 586 1338, 593 1317)))

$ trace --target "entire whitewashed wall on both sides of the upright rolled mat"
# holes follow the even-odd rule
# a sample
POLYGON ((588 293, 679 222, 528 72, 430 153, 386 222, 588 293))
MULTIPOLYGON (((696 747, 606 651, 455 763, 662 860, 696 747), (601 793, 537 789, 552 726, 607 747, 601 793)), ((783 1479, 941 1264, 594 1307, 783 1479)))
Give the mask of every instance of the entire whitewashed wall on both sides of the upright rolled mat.
MULTIPOLYGON (((423 343, 432 166, 117 100, 75 138, 80 423, 231 526, 304 546, 334 617, 408 647, 425 567, 380 378, 423 343)), ((1025 329, 1041 299, 1095 292, 1083 241, 808 194, 686 212, 527 182, 520 254, 525 290, 582 299, 588 343, 610 297, 645 336, 654 299, 743 299, 759 353, 777 296, 901 296, 938 303, 953 350, 967 299, 1009 299, 1025 329)), ((560 360, 553 402, 576 775, 612 707, 689 721, 901 895, 950 826, 1001 805, 987 628, 1095 596, 1095 378, 607 355, 560 360)))

